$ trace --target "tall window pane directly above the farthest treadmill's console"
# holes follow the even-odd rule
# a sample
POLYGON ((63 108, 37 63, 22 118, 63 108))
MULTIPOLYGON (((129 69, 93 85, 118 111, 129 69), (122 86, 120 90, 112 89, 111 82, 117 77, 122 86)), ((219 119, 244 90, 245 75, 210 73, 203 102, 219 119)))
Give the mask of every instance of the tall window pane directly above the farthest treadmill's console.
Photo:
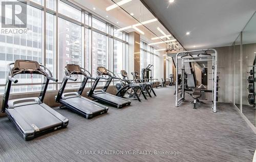
MULTIPOLYGON (((92 36, 92 75, 96 76, 98 66, 106 67, 106 36, 93 32, 92 36)), ((107 68, 107 67, 106 67, 107 68)))

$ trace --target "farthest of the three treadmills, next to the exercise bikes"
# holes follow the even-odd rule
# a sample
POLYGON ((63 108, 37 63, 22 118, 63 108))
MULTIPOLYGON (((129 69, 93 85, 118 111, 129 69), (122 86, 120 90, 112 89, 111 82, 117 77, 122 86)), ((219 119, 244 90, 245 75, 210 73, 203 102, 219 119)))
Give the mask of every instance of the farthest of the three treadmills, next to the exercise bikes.
POLYGON ((115 106, 117 108, 122 108, 124 106, 127 106, 127 105, 131 104, 130 100, 126 100, 126 99, 117 97, 115 95, 108 94, 106 92, 106 89, 108 89, 112 79, 120 80, 121 78, 117 78, 114 73, 110 72, 109 70, 106 70, 106 68, 102 67, 102 66, 97 67, 96 74, 98 76, 97 76, 96 80, 94 81, 91 90, 87 92, 87 95, 89 97, 92 97, 92 98, 94 98, 94 99, 96 99, 100 102, 110 104, 110 105, 115 106), (106 84, 103 87, 103 89, 96 89, 95 90, 95 88, 96 88, 100 79, 106 80, 106 84))

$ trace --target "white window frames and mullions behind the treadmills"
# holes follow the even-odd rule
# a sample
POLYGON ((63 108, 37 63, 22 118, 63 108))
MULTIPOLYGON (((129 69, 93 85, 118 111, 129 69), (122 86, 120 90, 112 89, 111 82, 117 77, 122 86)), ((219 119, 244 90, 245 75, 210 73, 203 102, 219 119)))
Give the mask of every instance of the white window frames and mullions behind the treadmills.
MULTIPOLYGON (((19 0, 17 0, 19 1, 19 0)), ((127 33, 126 32, 122 32, 122 39, 120 38, 117 38, 114 36, 114 29, 116 29, 116 27, 112 24, 110 24, 108 21, 105 21, 103 19, 101 19, 100 17, 97 17, 96 15, 88 12, 87 10, 84 10, 83 8, 73 4, 72 2, 69 2, 67 0, 53 0, 54 1, 54 7, 53 8, 48 8, 47 7, 47 4, 48 3, 45 3, 47 1, 44 1, 44 3, 42 5, 38 4, 38 3, 35 3, 31 0, 27 0, 26 2, 22 2, 20 1, 21 3, 26 3, 28 6, 31 6, 31 7, 34 7, 36 9, 39 9, 42 11, 42 44, 41 44, 41 49, 42 49, 42 57, 41 57, 41 62, 43 65, 46 65, 47 63, 47 60, 46 60, 46 55, 47 55, 47 52, 46 52, 46 49, 47 49, 47 43, 46 43, 46 34, 47 34, 47 22, 46 22, 46 14, 49 13, 49 14, 52 14, 54 16, 54 31, 53 31, 53 41, 54 41, 54 44, 53 44, 53 70, 54 70, 54 73, 55 73, 55 78, 58 78, 58 53, 59 53, 59 50, 58 50, 58 18, 62 18, 62 19, 65 19, 67 21, 70 21, 70 22, 73 22, 74 24, 76 25, 79 25, 82 27, 82 67, 86 67, 88 66, 88 68, 86 68, 90 73, 92 73, 92 32, 98 32, 100 34, 103 34, 106 36, 106 56, 107 56, 107 59, 106 59, 106 68, 109 68, 111 71, 114 70, 114 60, 110 59, 111 58, 111 55, 113 55, 114 51, 112 50, 112 48, 114 48, 114 43, 111 44, 111 41, 113 40, 118 40, 118 41, 121 41, 122 44, 123 44, 123 66, 124 66, 124 69, 126 70, 127 68, 127 55, 128 55, 128 47, 127 45, 129 44, 128 43, 128 40, 127 40, 127 33), (80 10, 81 11, 81 21, 78 21, 76 19, 73 19, 69 16, 66 16, 66 15, 63 15, 61 13, 58 12, 58 1, 61 1, 77 10, 80 10), (88 16, 87 16, 88 15, 88 16), (92 27, 92 18, 96 18, 97 20, 101 21, 101 22, 104 22, 106 24, 106 32, 102 32, 98 29, 95 29, 92 27), (89 22, 87 22, 89 21, 89 22), (86 35, 86 30, 89 30, 89 34, 86 35), (113 33, 112 33, 113 31, 113 33), (88 39, 87 39, 88 38, 88 39), (89 41, 89 42, 88 42, 89 41), (85 44, 86 43, 89 43, 89 47, 87 47, 85 44), (112 47, 110 47, 110 45, 112 45, 112 47), (89 52, 88 52, 89 51, 89 52), (86 56, 87 54, 89 53, 89 56, 86 56), (85 65, 86 63, 86 57, 89 57, 89 65, 85 65)), ((113 41, 114 42, 114 41, 113 41)), ((92 81, 89 81, 89 84, 88 86, 90 86, 92 81)), ((70 82, 70 83, 81 83, 81 82, 70 82)), ((23 85, 40 85, 41 83, 17 83, 13 86, 23 86, 23 85)), ((51 86, 53 84, 53 90, 58 90, 58 86, 61 84, 61 82, 50 82, 49 83, 49 86, 51 86)), ((4 87, 5 84, 0 84, 0 87, 4 87)), ((23 91, 23 92, 20 92, 21 94, 22 93, 25 93, 26 91, 23 91)), ((2 93, 0 94, 2 95, 2 93)))

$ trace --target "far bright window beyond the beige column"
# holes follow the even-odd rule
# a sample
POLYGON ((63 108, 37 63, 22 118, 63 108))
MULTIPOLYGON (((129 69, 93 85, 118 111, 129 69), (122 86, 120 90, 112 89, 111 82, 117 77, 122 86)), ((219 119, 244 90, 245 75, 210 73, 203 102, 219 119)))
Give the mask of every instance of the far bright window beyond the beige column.
POLYGON ((152 64, 154 66, 152 69, 152 78, 158 79, 158 61, 159 61, 159 53, 156 51, 156 48, 147 45, 147 43, 141 41, 140 42, 140 68, 145 68, 148 64, 152 64))

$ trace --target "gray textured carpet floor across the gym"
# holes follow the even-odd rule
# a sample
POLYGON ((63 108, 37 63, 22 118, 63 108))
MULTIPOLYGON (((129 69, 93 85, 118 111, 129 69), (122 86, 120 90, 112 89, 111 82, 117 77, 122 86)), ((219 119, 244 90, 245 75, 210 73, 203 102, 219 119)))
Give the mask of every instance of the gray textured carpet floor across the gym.
POLYGON ((28 142, 6 117, 1 118, 0 161, 252 161, 256 135, 230 104, 219 103, 217 113, 207 103, 193 109, 187 101, 177 108, 174 86, 156 93, 148 101, 111 107, 109 113, 90 120, 57 109, 69 119, 69 126, 28 142), (80 150, 96 154, 77 154, 80 150), (98 150, 124 153, 100 155, 98 150), (153 154, 125 153, 128 150, 153 154), (178 154, 154 154, 155 150, 178 154))

